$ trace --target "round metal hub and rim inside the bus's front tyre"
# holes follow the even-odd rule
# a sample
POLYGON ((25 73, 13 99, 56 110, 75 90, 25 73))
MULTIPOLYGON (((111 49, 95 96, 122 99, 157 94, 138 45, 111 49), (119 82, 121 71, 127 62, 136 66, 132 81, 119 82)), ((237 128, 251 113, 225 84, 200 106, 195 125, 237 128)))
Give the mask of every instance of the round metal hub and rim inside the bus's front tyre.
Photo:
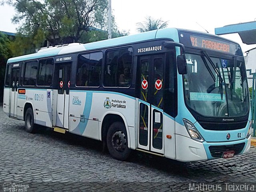
POLYGON ((112 136, 112 146, 118 152, 123 152, 126 148, 126 137, 124 132, 117 131, 112 136))

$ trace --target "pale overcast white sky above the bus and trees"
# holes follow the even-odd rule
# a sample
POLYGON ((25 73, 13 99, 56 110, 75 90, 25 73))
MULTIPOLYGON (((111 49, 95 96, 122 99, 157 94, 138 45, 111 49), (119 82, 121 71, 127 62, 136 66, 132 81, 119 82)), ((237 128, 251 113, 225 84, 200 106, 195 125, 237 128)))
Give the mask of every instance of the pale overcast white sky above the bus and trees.
MULTIPOLYGON (((138 33, 136 23, 147 16, 169 21, 168 27, 204 32, 205 28, 214 34, 214 28, 256 20, 255 5, 255 0, 112 0, 118 28, 130 34, 138 33)), ((14 14, 14 8, 0 6, 0 31, 16 32, 18 25, 11 21, 14 14)), ((238 34, 222 37, 238 42, 243 52, 256 47, 243 44, 238 34)))

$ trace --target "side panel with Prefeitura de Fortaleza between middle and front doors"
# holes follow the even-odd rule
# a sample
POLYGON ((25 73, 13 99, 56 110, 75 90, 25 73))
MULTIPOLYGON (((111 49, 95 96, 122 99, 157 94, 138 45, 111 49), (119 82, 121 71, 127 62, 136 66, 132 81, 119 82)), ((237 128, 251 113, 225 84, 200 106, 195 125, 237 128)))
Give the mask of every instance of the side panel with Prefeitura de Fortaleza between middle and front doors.
POLYGON ((101 123, 105 114, 119 113, 129 126, 128 134, 132 132, 131 140, 135 145, 134 106, 134 98, 116 92, 71 90, 70 132, 101 140, 101 123))

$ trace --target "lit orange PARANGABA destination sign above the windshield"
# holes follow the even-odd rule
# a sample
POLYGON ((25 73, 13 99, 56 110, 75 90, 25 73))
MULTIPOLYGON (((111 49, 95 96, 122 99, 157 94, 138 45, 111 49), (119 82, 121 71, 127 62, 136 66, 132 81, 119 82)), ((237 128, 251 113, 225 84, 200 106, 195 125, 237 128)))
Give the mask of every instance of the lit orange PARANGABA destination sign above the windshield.
POLYGON ((236 45, 223 42, 212 38, 204 38, 200 36, 190 35, 190 41, 193 47, 210 49, 214 51, 220 51, 225 53, 232 53, 236 50, 236 45))

